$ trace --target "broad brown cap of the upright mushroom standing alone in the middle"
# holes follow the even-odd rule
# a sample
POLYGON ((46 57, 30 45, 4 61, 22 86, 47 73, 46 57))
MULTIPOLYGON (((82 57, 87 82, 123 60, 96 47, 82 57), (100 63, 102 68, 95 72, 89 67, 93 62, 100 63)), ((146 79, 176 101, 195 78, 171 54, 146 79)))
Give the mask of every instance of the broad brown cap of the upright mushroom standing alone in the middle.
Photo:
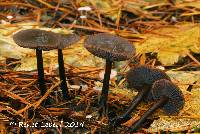
POLYGON ((127 60, 135 54, 135 48, 130 42, 108 33, 88 36, 84 47, 93 55, 111 61, 127 60))

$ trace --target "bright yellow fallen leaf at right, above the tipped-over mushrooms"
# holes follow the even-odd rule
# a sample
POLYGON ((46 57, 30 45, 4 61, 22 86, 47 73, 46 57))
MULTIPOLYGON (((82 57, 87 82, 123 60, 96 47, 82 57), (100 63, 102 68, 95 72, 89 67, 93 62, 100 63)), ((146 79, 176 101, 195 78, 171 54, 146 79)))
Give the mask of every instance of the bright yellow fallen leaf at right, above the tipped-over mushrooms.
POLYGON ((137 53, 158 53, 165 65, 178 62, 188 51, 200 53, 200 25, 179 24, 166 26, 144 34, 145 39, 136 43, 137 53))

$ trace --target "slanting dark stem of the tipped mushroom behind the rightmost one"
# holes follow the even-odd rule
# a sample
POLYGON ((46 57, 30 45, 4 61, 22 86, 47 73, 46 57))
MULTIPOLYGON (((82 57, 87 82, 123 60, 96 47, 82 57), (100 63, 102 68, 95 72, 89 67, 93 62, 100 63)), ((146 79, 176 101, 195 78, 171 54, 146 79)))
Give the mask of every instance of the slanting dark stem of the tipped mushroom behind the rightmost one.
POLYGON ((122 116, 114 120, 113 126, 120 125, 126 122, 129 119, 129 115, 133 112, 133 110, 138 106, 138 104, 142 101, 142 99, 149 92, 149 88, 144 86, 143 90, 137 94, 137 96, 133 99, 130 107, 122 116))

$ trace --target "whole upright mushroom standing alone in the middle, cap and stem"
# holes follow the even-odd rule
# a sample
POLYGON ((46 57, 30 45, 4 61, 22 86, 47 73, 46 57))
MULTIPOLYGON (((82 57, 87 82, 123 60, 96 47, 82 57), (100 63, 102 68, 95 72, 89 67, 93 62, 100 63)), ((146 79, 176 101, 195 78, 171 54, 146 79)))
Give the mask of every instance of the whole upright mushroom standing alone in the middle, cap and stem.
POLYGON ((84 47, 93 55, 106 59, 102 93, 99 101, 100 114, 107 115, 109 80, 113 61, 130 59, 135 54, 134 46, 127 40, 108 33, 88 36, 84 47))

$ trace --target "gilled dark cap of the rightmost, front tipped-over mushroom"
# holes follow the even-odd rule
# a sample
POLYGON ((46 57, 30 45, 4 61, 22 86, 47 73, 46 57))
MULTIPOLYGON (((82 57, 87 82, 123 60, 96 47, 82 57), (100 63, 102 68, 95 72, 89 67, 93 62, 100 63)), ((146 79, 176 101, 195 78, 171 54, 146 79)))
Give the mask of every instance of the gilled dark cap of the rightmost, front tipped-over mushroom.
POLYGON ((161 79, 152 86, 154 100, 159 100, 163 96, 168 97, 168 102, 162 109, 169 115, 177 114, 184 106, 184 97, 181 90, 169 80, 161 79))

